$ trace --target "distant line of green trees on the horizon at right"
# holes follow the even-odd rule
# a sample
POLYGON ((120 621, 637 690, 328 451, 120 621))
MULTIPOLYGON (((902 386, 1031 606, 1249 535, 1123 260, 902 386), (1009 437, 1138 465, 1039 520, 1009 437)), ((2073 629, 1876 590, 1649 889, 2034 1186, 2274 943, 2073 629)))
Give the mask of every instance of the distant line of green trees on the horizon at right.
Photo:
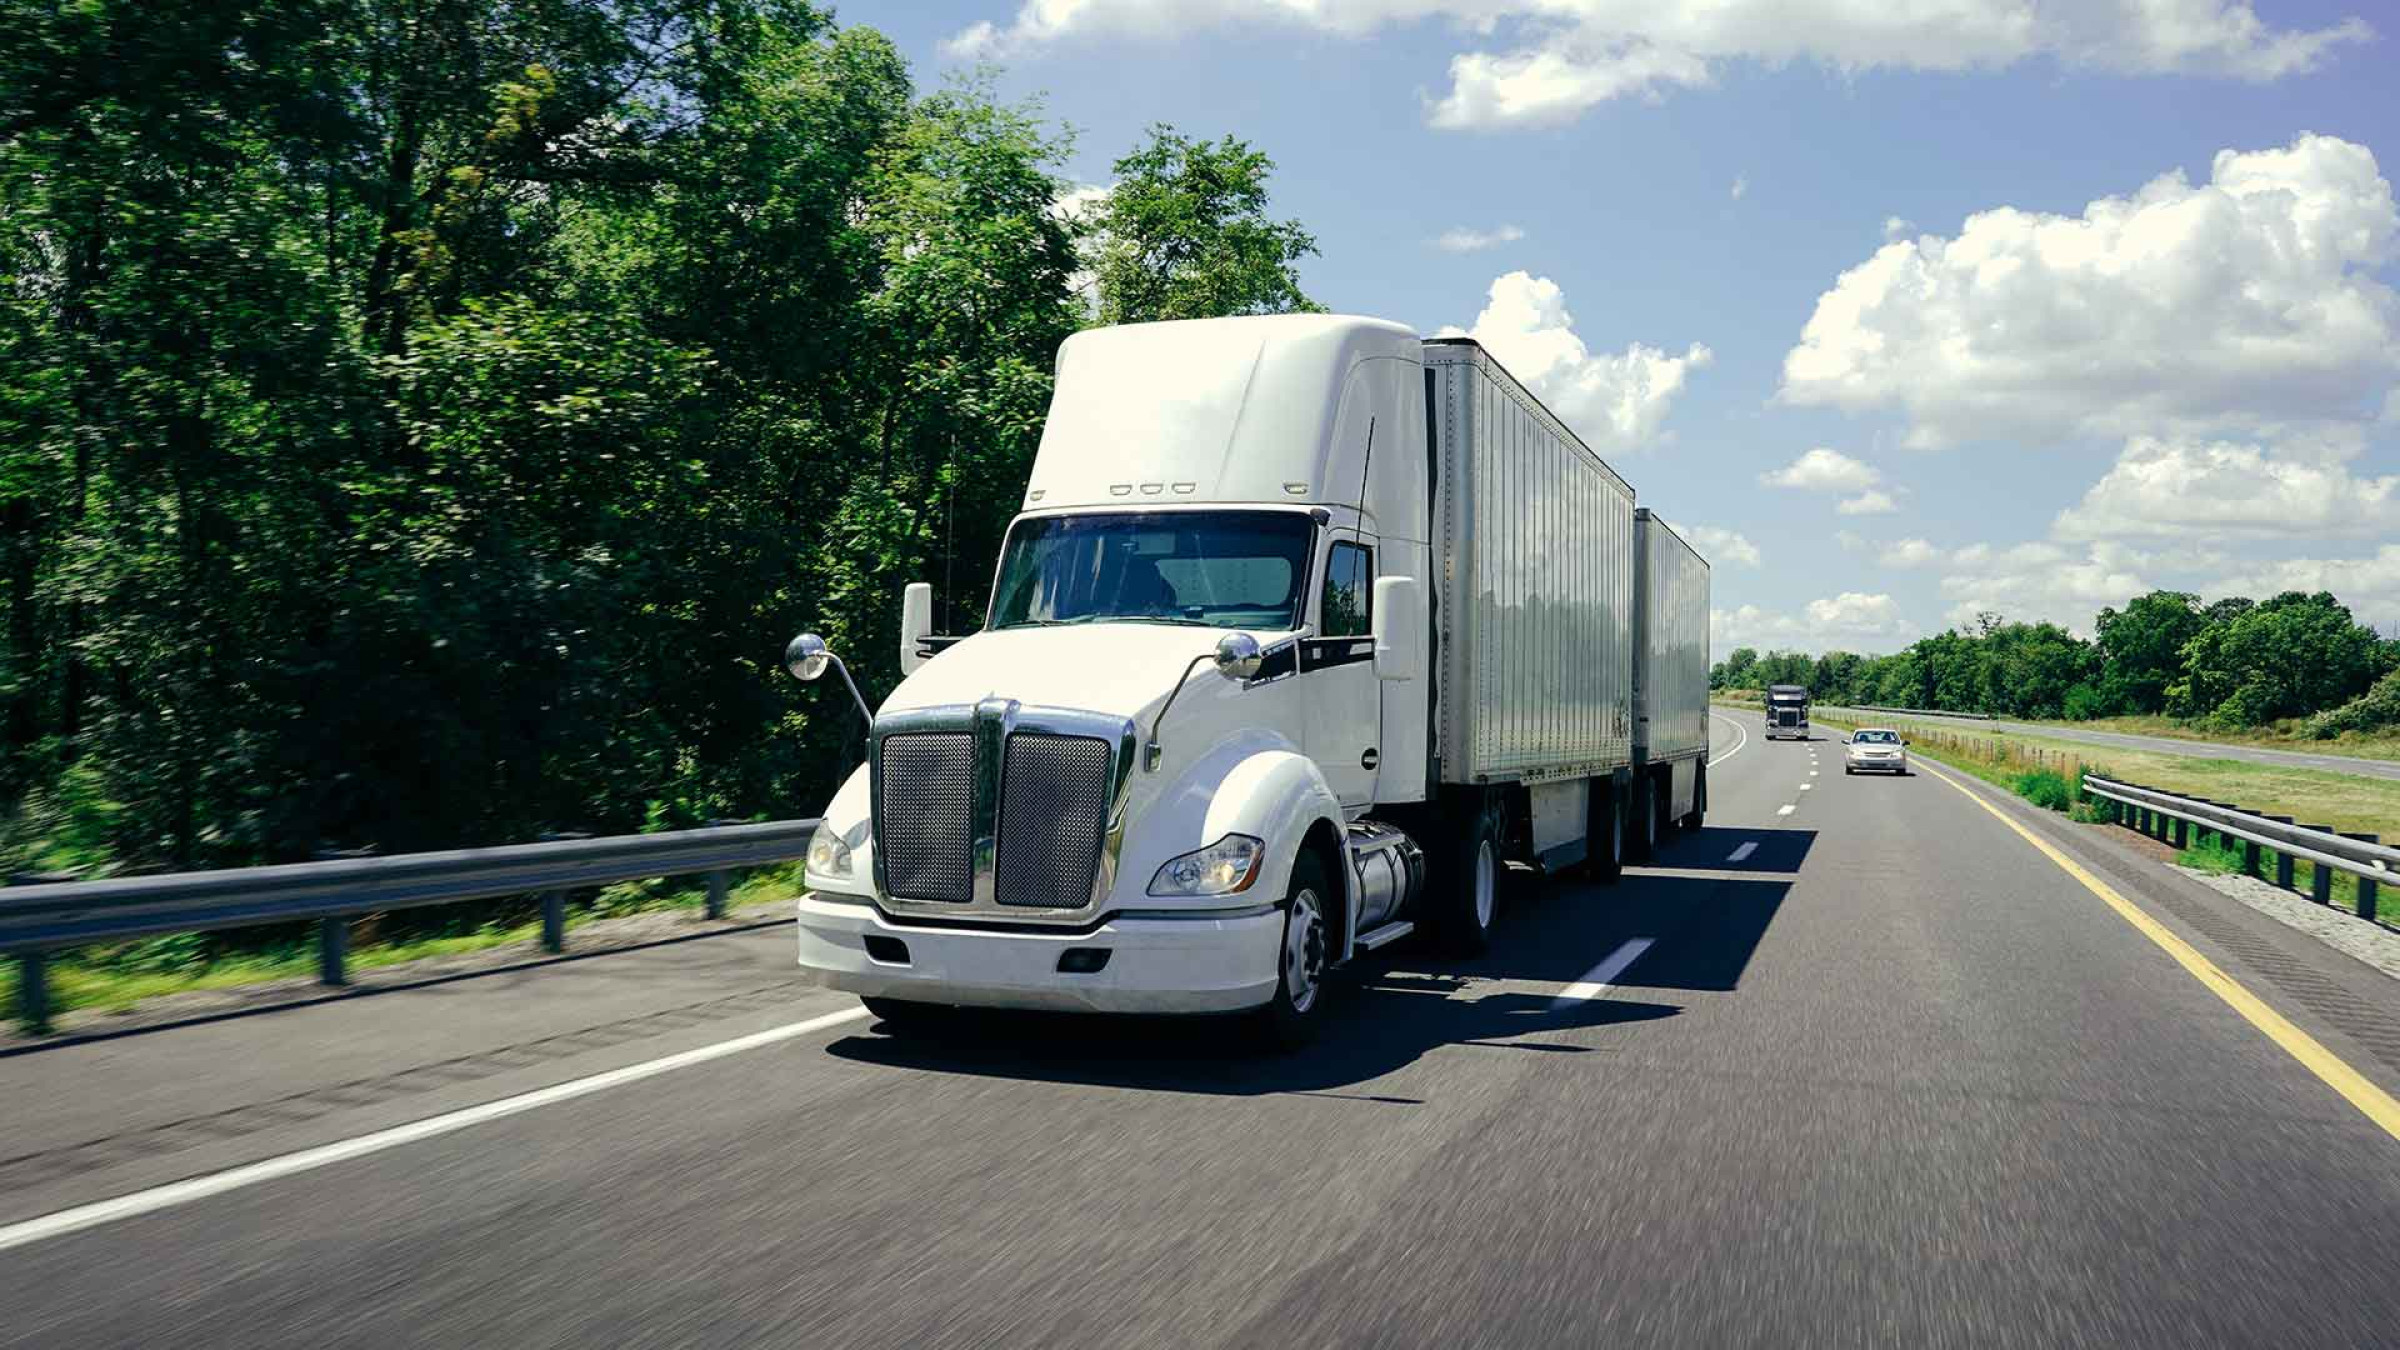
POLYGON ((1973 632, 1918 639, 1894 656, 1735 649, 1711 689, 1807 685, 1831 704, 1944 709, 2016 718, 2165 713, 2220 728, 2306 718, 2299 730, 2400 725, 2400 641, 2330 593, 2201 603, 2150 591, 2100 610, 2093 637, 1982 615, 1973 632))

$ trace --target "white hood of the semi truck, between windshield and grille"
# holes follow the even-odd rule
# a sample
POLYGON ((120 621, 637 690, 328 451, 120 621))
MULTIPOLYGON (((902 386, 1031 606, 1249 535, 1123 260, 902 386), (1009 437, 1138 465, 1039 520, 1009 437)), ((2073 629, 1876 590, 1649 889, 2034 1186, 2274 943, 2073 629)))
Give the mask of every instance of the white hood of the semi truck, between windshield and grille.
MULTIPOLYGON (((881 713, 1015 699, 1140 721, 1231 629, 1104 622, 979 632, 883 699, 881 713)), ((1253 634, 1260 646, 1284 634, 1253 634)))

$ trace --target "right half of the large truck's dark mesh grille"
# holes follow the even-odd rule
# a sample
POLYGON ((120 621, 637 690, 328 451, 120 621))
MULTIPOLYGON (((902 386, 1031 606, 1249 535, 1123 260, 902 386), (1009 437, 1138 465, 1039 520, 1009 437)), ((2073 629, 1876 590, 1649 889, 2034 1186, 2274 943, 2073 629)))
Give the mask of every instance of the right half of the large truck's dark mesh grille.
POLYGON ((1001 862, 994 877, 998 903, 1027 908, 1090 903, 1106 831, 1106 740, 1030 730, 1008 737, 1008 764, 1001 776, 1001 862))

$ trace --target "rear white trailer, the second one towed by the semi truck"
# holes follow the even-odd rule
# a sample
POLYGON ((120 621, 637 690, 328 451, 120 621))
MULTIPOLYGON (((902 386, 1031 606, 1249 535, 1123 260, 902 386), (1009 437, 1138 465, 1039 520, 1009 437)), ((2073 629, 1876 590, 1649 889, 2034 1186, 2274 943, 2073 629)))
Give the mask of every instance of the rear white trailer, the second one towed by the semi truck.
POLYGON ((1634 790, 1627 853, 1709 810, 1709 560, 1634 512, 1634 790))

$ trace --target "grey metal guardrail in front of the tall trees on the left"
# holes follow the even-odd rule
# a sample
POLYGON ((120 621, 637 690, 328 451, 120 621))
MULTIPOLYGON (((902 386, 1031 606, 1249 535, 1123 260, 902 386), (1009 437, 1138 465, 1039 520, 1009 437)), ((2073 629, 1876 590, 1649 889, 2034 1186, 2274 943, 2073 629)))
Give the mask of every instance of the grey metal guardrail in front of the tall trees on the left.
POLYGON ((540 896, 542 946, 564 951, 566 891, 706 872, 708 918, 720 918, 734 867, 806 858, 811 834, 814 819, 794 819, 170 877, 19 884, 0 891, 0 954, 17 958, 17 1019, 31 1031, 46 1031, 48 954, 60 946, 317 920, 317 975, 326 985, 346 985, 353 915, 540 896))

